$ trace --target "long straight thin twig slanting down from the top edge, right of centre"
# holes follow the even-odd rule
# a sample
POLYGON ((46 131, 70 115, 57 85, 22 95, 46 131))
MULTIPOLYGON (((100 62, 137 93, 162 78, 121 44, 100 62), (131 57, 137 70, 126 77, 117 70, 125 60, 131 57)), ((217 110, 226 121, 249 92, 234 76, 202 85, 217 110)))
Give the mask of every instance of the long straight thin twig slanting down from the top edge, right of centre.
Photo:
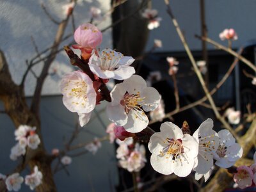
POLYGON ((184 35, 181 32, 181 30, 180 30, 179 24, 178 24, 177 20, 175 19, 174 15, 172 13, 172 9, 171 9, 169 1, 168 0, 164 0, 164 2, 166 3, 166 6, 167 6, 167 12, 168 12, 168 14, 171 17, 173 25, 175 26, 175 29, 176 29, 179 37, 180 37, 180 40, 181 40, 182 44, 184 45, 184 48, 185 48, 185 50, 186 50, 186 52, 188 54, 189 60, 191 61, 192 65, 193 65, 193 68, 195 70, 196 76, 198 77, 198 79, 200 81, 200 84, 202 85, 202 88, 203 88, 203 90, 205 92, 205 95, 206 95, 207 99, 209 100, 209 102, 210 102, 210 104, 212 106, 212 110, 214 111, 214 114, 216 115, 218 120, 220 120, 220 122, 224 125, 224 127, 226 129, 228 129, 228 131, 230 131, 230 133, 234 136, 234 138, 236 138, 237 141, 239 141, 239 137, 237 136, 236 132, 234 132, 232 127, 230 127, 230 125, 226 122, 225 118, 223 118, 220 115, 218 109, 216 108, 216 104, 214 103, 214 100, 212 99, 211 94, 209 93, 209 90, 208 90, 208 88, 205 85, 204 78, 202 77, 202 74, 201 74, 199 68, 196 65, 195 58, 193 57, 193 54, 191 53, 191 51, 190 51, 190 49, 188 47, 186 39, 184 38, 184 35))

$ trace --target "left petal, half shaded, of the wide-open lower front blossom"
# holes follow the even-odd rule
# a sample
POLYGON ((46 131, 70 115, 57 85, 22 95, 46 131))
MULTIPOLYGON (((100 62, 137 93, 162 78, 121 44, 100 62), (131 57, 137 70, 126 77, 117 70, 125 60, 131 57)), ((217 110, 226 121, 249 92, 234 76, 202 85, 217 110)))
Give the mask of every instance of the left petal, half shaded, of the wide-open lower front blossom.
POLYGON ((161 132, 156 132, 150 137, 148 149, 152 154, 158 155, 166 145, 168 145, 168 143, 165 138, 163 138, 163 134, 161 132))

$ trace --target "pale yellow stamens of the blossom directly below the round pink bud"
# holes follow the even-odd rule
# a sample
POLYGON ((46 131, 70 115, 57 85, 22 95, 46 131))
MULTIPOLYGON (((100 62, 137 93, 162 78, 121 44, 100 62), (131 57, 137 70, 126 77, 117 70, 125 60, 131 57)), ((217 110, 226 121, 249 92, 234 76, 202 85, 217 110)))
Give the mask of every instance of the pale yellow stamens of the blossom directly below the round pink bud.
POLYGON ((115 51, 102 51, 100 57, 100 68, 102 70, 115 70, 118 67, 119 61, 122 59, 123 54, 120 52, 115 54, 115 51))

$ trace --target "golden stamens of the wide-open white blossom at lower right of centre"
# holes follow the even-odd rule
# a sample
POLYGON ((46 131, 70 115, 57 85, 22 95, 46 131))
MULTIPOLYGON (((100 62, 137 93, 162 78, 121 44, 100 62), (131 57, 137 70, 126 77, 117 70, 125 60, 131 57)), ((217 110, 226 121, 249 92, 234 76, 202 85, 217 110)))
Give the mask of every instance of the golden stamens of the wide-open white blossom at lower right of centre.
POLYGON ((175 160, 179 154, 184 153, 184 147, 182 145, 182 140, 173 140, 170 138, 166 138, 166 141, 164 143, 168 142, 168 145, 163 148, 163 151, 160 152, 160 156, 165 156, 167 155, 170 158, 172 156, 172 159, 175 160))

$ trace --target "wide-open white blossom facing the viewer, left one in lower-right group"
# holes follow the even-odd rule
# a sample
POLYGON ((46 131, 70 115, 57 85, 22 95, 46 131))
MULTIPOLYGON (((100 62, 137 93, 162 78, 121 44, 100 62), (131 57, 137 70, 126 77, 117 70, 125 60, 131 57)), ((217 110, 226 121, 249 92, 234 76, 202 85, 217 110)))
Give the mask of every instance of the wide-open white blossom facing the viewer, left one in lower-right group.
POLYGON ((198 143, 171 122, 163 123, 160 131, 154 133, 148 143, 148 149, 152 153, 152 167, 164 175, 175 173, 179 177, 186 177, 195 164, 198 143))

